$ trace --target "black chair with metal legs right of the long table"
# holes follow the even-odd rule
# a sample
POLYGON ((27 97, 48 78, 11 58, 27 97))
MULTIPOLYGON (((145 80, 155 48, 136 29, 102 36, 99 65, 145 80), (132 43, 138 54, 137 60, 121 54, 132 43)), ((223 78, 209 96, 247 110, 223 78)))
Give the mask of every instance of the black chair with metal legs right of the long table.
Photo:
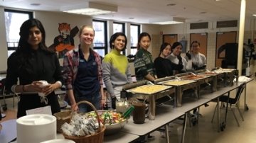
MULTIPOLYGON (((240 125, 239 125, 239 122, 238 122, 238 118, 236 117, 235 112, 234 112, 234 110, 233 110, 233 106, 235 106, 235 107, 238 109, 238 112, 239 112, 239 114, 240 114, 240 116, 241 116, 241 118, 242 118, 242 121, 244 121, 244 118, 242 117, 242 113, 241 113, 241 111, 240 111, 240 109, 239 109, 239 107, 238 107, 238 102, 239 102, 240 96, 241 96, 241 94, 242 94, 242 91, 243 91, 244 89, 245 89, 245 84, 241 84, 241 85, 238 87, 238 90, 237 90, 237 93, 236 93, 236 95, 235 95, 235 98, 229 98, 228 95, 222 95, 222 96, 220 96, 220 102, 222 102, 222 103, 227 103, 227 106, 230 105, 230 110, 232 111, 232 113, 233 113, 233 115, 234 115, 234 117, 235 117, 235 120, 236 120, 236 122, 238 123, 238 127, 240 127, 240 125)), ((222 105, 223 105, 223 104, 222 104, 222 105)), ((215 107, 215 110, 216 110, 216 108, 217 108, 217 105, 216 105, 216 107, 215 107)), ((227 109, 228 109, 228 107, 227 107, 227 109)), ((214 118, 214 115, 215 115, 215 110, 214 110, 214 113, 213 113, 213 118, 214 118)), ((227 112, 228 112, 228 110, 226 110, 226 113, 225 113, 225 121, 226 121, 226 118, 227 118, 227 112)), ((212 118, 211 122, 213 122, 213 118, 212 118)))

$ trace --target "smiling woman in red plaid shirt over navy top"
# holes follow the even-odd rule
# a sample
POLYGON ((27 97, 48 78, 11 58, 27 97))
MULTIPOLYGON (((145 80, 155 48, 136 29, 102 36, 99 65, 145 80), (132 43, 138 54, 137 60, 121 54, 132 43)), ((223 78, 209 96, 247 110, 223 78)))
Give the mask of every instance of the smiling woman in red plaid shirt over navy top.
POLYGON ((102 62, 97 52, 90 48, 95 30, 83 25, 78 32, 80 45, 65 54, 63 60, 65 86, 73 110, 88 112, 90 106, 77 102, 89 101, 97 110, 105 105, 103 99, 102 62))

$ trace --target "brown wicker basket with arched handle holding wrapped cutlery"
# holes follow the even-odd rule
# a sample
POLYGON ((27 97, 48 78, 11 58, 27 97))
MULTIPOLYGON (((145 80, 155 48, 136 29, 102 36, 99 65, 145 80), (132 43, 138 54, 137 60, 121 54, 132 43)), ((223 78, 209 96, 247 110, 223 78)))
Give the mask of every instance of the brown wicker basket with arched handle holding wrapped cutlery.
MULTIPOLYGON (((100 117, 99 114, 97 113, 97 109, 95 108, 94 105, 92 105, 92 103, 88 102, 88 101, 80 101, 77 104, 81 104, 81 103, 86 103, 88 105, 90 105, 90 107, 92 107, 93 110, 95 110, 95 113, 97 115, 97 121, 99 122, 99 129, 97 131, 97 133, 95 133, 94 135, 86 135, 86 136, 68 136, 63 134, 63 136, 65 137, 65 139, 70 139, 73 140, 75 143, 102 143, 103 142, 103 137, 104 137, 104 132, 105 132, 105 125, 103 125, 103 127, 101 127, 100 125, 100 117)), ((73 113, 71 113, 73 115, 73 113)))

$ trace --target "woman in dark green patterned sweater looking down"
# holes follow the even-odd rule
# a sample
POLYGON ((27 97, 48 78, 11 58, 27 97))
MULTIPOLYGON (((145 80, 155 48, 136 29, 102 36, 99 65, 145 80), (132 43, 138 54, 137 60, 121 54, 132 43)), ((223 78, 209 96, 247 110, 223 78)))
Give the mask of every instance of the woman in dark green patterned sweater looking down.
POLYGON ((156 69, 151 53, 148 51, 151 43, 149 33, 141 33, 138 39, 138 51, 134 58, 134 68, 137 81, 157 79, 156 69))

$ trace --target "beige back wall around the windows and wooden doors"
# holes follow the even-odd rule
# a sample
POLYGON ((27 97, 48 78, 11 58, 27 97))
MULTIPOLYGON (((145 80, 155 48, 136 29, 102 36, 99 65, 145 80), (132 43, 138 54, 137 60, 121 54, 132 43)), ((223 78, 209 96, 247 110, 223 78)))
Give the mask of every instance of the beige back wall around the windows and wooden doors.
MULTIPOLYGON (((0 6, 0 70, 6 70, 6 61, 7 61, 7 45, 6 45, 6 31, 4 26, 4 8, 0 6)), ((76 14, 69 13, 58 13, 58 12, 47 12, 47 11, 35 11, 35 18, 38 18, 43 23, 46 28, 46 44, 53 44, 53 39, 56 35, 58 35, 58 23, 67 22, 70 23, 71 28, 76 25, 80 28, 81 25, 92 25, 92 18, 88 16, 80 16, 76 14)), ((244 42, 247 43, 247 39, 251 38, 252 40, 256 38, 256 20, 247 20, 245 22, 245 38, 244 42)), ((109 28, 112 25, 113 21, 108 21, 109 28)), ((126 34, 129 39, 129 25, 130 23, 126 23, 126 34)), ((149 52, 152 53, 153 57, 156 58, 159 55, 159 48, 162 42, 163 34, 178 34, 178 40, 185 38, 185 40, 189 43, 189 35, 190 33, 208 33, 208 60, 207 60, 207 68, 212 69, 215 67, 215 40, 216 40, 216 32, 225 32, 225 31, 238 31, 238 28, 215 28, 216 22, 209 22, 208 29, 199 29, 199 30, 190 30, 189 23, 185 24, 176 24, 176 25, 150 25, 143 24, 142 32, 147 32, 151 35, 151 47, 149 47, 149 52)), ((110 28, 112 30, 112 28, 110 28)), ((108 35, 112 35, 109 32, 108 35)), ((237 38, 238 39, 238 38, 237 38)), ((78 45, 78 37, 74 38, 75 45, 78 45)), ((129 41, 129 40, 128 40, 129 41)), ((187 50, 189 48, 189 44, 187 44, 187 50)), ((127 45, 127 53, 129 54, 129 42, 127 45)), ((251 72, 254 73, 256 71, 256 62, 254 60, 252 62, 251 72)), ((60 64, 62 64, 62 60, 60 59, 60 64)))

